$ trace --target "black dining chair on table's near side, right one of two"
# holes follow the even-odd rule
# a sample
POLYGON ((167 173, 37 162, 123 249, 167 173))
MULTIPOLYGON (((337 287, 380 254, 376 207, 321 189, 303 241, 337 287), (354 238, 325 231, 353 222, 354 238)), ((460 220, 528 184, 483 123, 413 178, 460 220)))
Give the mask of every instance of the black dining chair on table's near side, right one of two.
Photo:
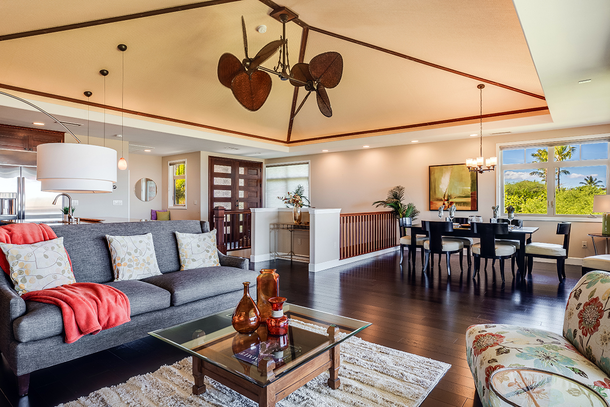
POLYGON ((498 243, 495 238, 497 235, 508 234, 507 223, 472 223, 473 232, 479 235, 481 242, 475 243, 472 246, 472 255, 475 258, 475 271, 472 273, 472 278, 478 275, 481 270, 481 258, 483 259, 499 259, 500 260, 500 276, 504 283, 504 260, 511 259, 512 276, 515 276, 515 250, 514 245, 506 243, 498 243))

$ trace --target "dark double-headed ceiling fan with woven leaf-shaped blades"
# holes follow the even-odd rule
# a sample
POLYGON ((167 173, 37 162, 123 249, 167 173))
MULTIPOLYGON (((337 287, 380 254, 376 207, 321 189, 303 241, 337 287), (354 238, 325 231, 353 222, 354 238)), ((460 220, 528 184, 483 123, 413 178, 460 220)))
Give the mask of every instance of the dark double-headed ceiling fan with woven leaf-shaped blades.
MULTIPOLYGON (((331 117, 331 102, 326 89, 339 85, 343 74, 343 58, 339 52, 324 52, 312 58, 309 63, 296 63, 294 67, 290 68, 288 40, 286 38, 286 23, 290 17, 288 12, 290 10, 282 7, 271 13, 271 16, 279 13, 283 35, 279 40, 271 41, 261 48, 254 58, 248 56, 248 36, 242 16, 245 59, 240 62, 233 54, 228 52, 223 54, 218 60, 218 80, 224 86, 231 88, 233 96, 243 107, 256 112, 267 101, 267 97, 271 93, 271 76, 269 75, 271 73, 277 75, 282 81, 288 80, 295 87, 303 86, 307 91, 307 95, 303 98, 293 117, 301 110, 312 92, 316 93, 320 112, 326 117, 331 117), (262 67, 261 64, 278 50, 280 51, 278 65, 273 70, 262 67)), ((296 18, 294 13, 291 16, 296 18)))

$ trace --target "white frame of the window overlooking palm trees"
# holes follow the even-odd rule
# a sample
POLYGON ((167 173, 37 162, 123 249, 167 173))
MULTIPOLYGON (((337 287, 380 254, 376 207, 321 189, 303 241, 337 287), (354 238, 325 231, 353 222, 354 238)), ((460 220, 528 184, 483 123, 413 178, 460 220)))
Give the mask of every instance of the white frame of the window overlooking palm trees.
MULTIPOLYGON (((573 137, 561 137, 554 139, 540 139, 540 140, 527 140, 522 142, 509 142, 509 143, 497 143, 496 144, 496 156, 498 157, 498 165, 496 167, 496 202, 500 205, 500 214, 506 213, 504 208, 504 170, 509 167, 510 170, 529 170, 533 167, 536 168, 548 168, 554 171, 556 167, 583 167, 583 162, 590 165, 606 165, 606 188, 610 188, 610 134, 595 134, 595 135, 580 135, 573 137), (594 142, 608 142, 608 159, 597 159, 597 160, 578 160, 578 161, 556 161, 553 154, 553 150, 549 151, 549 159, 547 162, 534 162, 527 164, 502 164, 501 150, 503 149, 517 149, 517 148, 531 148, 537 146, 547 146, 552 148, 555 145, 567 145, 567 144, 583 144, 583 143, 594 143, 594 142), (552 159, 551 159, 552 157, 552 159), (561 165, 557 165, 561 162, 561 165)), ((547 171, 547 174, 549 171, 547 171)), ((552 222, 601 222, 601 215, 568 215, 568 214, 555 214, 555 178, 547 176, 547 213, 546 214, 515 214, 515 217, 522 218, 523 220, 548 220, 552 222), (549 213, 551 212, 552 213, 549 213)))

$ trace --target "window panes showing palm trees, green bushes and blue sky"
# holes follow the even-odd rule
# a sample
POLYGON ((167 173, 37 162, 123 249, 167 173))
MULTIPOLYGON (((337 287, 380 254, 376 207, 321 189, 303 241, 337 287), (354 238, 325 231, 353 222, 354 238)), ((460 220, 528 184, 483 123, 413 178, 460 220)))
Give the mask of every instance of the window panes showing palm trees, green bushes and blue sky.
POLYGON ((504 212, 589 215, 608 185, 607 140, 501 148, 504 212))

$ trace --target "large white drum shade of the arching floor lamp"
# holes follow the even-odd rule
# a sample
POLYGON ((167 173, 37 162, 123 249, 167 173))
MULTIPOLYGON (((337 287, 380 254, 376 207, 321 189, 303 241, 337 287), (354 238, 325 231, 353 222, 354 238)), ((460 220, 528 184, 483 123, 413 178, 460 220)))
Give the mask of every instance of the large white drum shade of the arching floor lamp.
POLYGON ((37 146, 37 176, 47 192, 112 192, 117 182, 117 151, 74 143, 37 146))

